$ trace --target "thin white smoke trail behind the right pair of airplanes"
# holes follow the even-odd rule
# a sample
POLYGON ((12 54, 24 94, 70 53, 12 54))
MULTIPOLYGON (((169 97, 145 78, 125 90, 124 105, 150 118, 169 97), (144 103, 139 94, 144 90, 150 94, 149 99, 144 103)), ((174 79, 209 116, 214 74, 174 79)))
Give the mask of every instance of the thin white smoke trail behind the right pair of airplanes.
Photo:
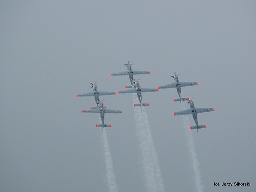
MULTIPOLYGON (((182 110, 186 109, 183 102, 182 102, 181 108, 182 110)), ((183 115, 183 126, 186 134, 187 145, 189 147, 189 152, 191 154, 191 159, 192 159, 192 168, 195 176, 195 187, 197 189, 197 192, 203 192, 204 186, 202 185, 202 180, 201 180, 200 170, 199 170, 199 162, 197 160, 197 157, 196 157, 197 155, 194 150, 194 139, 192 136, 192 131, 189 128, 190 120, 188 115, 183 115)))

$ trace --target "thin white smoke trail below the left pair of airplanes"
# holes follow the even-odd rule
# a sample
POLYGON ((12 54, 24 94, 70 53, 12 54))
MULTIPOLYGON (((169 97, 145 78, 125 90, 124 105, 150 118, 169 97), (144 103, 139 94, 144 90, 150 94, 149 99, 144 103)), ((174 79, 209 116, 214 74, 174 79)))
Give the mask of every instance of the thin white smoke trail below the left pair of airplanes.
MULTIPOLYGON (((100 116, 99 116, 99 119, 100 119, 100 116)), ((107 176, 109 192, 118 192, 117 185, 116 185, 116 175, 113 169, 113 162, 110 154, 110 147, 107 140, 107 131, 105 128, 102 131, 102 138, 103 138, 103 145, 105 150, 106 170, 107 170, 106 176, 107 176)))

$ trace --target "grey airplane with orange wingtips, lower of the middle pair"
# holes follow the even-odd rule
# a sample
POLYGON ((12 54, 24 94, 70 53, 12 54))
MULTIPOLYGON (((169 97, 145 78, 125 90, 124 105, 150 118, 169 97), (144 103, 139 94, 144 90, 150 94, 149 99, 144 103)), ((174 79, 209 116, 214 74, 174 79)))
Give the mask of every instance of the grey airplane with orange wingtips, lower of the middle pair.
POLYGON ((128 93, 136 93, 139 99, 139 104, 134 104, 134 107, 136 106, 149 106, 149 103, 142 103, 142 92, 156 92, 158 91, 158 89, 150 89, 150 88, 141 88, 141 86, 139 85, 138 80, 136 81, 135 79, 133 79, 133 83, 134 85, 130 85, 130 86, 126 86, 126 88, 131 88, 128 90, 124 90, 124 91, 119 91, 118 94, 128 94, 128 93))

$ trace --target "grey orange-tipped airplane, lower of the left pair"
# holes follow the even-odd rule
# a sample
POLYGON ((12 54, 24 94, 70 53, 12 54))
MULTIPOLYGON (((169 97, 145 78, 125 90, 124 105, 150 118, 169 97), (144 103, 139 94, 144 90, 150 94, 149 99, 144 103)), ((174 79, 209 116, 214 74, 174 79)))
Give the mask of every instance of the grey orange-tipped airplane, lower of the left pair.
POLYGON ((99 101, 97 107, 92 107, 91 109, 88 109, 88 110, 82 110, 81 113, 100 113, 100 119, 102 124, 99 124, 99 125, 96 124, 96 127, 102 127, 102 131, 103 131, 103 128, 112 127, 111 125, 104 124, 105 113, 123 113, 123 112, 120 110, 107 109, 107 107, 104 106, 102 101, 99 101))

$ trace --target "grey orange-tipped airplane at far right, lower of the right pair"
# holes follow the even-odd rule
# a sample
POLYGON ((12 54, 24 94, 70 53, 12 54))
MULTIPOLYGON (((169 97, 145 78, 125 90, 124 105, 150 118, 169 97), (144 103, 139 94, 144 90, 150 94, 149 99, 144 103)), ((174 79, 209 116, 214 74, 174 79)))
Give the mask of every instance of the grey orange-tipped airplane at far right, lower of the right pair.
MULTIPOLYGON (((174 99, 174 101, 179 101, 179 100, 174 99)), ((199 128, 206 128, 205 125, 198 126, 197 113, 210 112, 210 111, 214 111, 214 109, 213 108, 195 108, 194 103, 191 99, 189 100, 188 103, 190 103, 190 109, 175 112, 173 115, 175 116, 175 115, 189 115, 189 114, 192 114, 196 126, 190 127, 190 129, 195 129, 196 128, 196 130, 198 132, 199 128)))

